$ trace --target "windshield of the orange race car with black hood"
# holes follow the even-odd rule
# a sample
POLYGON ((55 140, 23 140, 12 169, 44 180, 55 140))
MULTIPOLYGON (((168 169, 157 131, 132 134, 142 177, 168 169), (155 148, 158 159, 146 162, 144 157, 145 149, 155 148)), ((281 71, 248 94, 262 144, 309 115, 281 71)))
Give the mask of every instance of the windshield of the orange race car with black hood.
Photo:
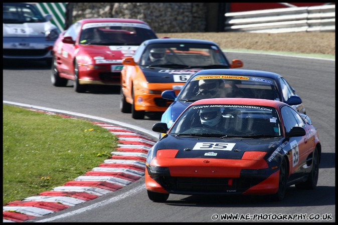
POLYGON ((191 67, 229 68, 225 55, 216 45, 196 43, 151 44, 144 50, 139 65, 187 69, 191 67))

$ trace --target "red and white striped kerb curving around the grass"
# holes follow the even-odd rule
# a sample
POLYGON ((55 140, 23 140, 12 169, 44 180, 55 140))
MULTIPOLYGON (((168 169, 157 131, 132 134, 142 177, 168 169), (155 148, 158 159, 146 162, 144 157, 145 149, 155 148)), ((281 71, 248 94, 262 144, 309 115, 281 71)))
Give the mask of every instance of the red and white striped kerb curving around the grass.
POLYGON ((7 203, 3 206, 3 222, 23 222, 48 215, 116 191, 144 176, 147 152, 155 141, 127 128, 101 122, 93 124, 108 129, 118 137, 118 147, 111 152, 111 157, 63 186, 42 192, 38 196, 7 203))

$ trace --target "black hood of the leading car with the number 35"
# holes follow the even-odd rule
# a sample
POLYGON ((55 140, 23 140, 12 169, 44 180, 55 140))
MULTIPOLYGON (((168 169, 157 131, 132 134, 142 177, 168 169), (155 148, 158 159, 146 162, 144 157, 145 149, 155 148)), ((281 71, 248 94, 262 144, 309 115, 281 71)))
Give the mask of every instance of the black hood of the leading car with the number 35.
MULTIPOLYGON (((164 136, 155 145, 154 150, 179 149, 175 158, 223 158, 241 159, 246 151, 273 152, 282 143, 282 137, 276 138, 187 138, 172 135, 164 136), (228 150, 194 149, 197 143, 221 143, 233 145, 228 150), (206 154, 207 153, 207 154, 206 154), (215 153, 217 153, 215 155, 215 153)), ((207 145, 206 145, 207 146, 207 145)), ((212 145, 211 145, 212 146, 212 145)), ((269 154, 268 154, 269 155, 269 154)))

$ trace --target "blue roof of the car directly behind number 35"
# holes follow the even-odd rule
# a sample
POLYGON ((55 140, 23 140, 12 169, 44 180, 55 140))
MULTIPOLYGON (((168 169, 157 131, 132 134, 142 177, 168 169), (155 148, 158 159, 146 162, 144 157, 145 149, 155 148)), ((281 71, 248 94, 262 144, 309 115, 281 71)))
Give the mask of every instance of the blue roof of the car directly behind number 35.
POLYGON ((201 70, 194 74, 192 77, 196 77, 199 75, 236 75, 236 76, 256 76, 256 77, 266 77, 276 79, 278 77, 282 77, 279 74, 268 72, 268 71, 260 71, 260 70, 243 70, 243 69, 208 69, 201 70))

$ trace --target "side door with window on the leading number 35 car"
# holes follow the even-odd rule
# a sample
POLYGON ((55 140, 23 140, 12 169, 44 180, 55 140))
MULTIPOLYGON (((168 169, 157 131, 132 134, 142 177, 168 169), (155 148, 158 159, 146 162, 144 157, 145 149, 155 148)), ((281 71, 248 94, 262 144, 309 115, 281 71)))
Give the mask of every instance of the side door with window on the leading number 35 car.
MULTIPOLYGON (((286 133, 295 126, 305 127, 305 121, 303 121, 302 118, 297 117, 297 112, 290 106, 283 106, 280 112, 286 133)), ((289 157, 289 175, 290 179, 295 179, 303 176, 305 172, 304 168, 306 168, 306 166, 304 165, 306 164, 306 157, 309 153, 309 149, 311 149, 311 144, 309 144, 306 135, 301 137, 289 137, 288 142, 289 144, 286 145, 287 149, 285 150, 288 151, 289 157)))

